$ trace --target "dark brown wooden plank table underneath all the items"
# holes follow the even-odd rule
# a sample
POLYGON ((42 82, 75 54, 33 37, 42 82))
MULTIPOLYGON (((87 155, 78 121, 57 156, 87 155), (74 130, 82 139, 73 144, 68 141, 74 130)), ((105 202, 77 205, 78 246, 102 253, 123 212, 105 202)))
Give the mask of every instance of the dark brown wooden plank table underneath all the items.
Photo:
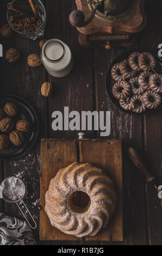
MULTIPOLYGON (((8 1, 1 0, 1 26, 7 23, 8 1)), ((146 185, 144 176, 135 168, 128 157, 128 146, 132 145, 144 154, 151 172, 161 180, 161 128, 162 110, 144 117, 129 115, 116 109, 105 93, 105 74, 111 61, 117 54, 126 51, 123 47, 114 47, 106 51, 102 47, 86 49, 78 44, 78 32, 68 22, 68 15, 76 8, 74 0, 45 0, 47 26, 44 38, 58 38, 70 45, 74 69, 65 78, 53 78, 47 74, 43 65, 30 68, 27 56, 40 54, 39 40, 32 41, 14 33, 9 39, 2 39, 3 52, 10 47, 20 48, 21 59, 10 64, 1 60, 1 92, 24 97, 39 115, 40 136, 30 153, 20 159, 1 161, 0 181, 9 175, 20 176, 28 187, 27 205, 36 218, 38 228, 34 230, 36 241, 42 245, 78 244, 78 242, 39 241, 39 179, 40 179, 40 138, 77 138, 77 131, 53 131, 52 112, 63 111, 111 111, 111 134, 109 138, 123 140, 123 242, 82 242, 82 244, 121 244, 121 245, 159 245, 162 242, 161 208, 157 192, 152 185, 146 185), (53 83, 54 93, 46 99, 41 96, 40 87, 45 81, 53 83)), ((130 50, 148 49, 158 52, 162 42, 161 16, 162 2, 146 0, 145 10, 147 27, 140 33, 139 42, 130 50)), ((87 138, 99 138, 99 132, 87 131, 87 138)), ((0 200, 0 211, 20 216, 13 204, 0 200)))

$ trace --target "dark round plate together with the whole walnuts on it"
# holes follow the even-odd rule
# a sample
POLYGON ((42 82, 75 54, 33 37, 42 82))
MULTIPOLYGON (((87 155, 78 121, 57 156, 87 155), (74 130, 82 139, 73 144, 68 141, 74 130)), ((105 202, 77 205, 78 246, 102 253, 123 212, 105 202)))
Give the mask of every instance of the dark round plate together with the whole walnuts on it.
POLYGON ((0 159, 26 153, 38 136, 38 118, 21 97, 0 95, 0 159))

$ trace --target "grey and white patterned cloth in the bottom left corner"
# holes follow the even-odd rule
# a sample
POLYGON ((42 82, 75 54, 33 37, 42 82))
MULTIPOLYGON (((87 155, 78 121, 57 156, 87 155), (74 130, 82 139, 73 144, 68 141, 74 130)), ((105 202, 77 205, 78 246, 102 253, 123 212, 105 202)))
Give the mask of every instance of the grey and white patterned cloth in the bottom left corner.
POLYGON ((36 245, 29 225, 0 213, 0 245, 36 245))

